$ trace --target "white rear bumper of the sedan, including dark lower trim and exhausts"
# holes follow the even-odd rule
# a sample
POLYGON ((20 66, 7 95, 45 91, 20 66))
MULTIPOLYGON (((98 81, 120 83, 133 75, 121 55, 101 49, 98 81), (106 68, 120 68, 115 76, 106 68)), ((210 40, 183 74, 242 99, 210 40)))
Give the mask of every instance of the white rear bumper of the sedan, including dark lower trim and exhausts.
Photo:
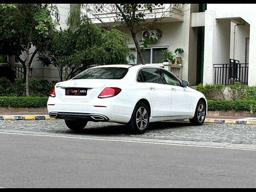
POLYGON ((135 105, 118 98, 96 99, 91 102, 63 102, 51 97, 49 97, 47 104, 51 117, 117 123, 128 123, 135 105), (92 114, 95 114, 96 117, 92 114))

